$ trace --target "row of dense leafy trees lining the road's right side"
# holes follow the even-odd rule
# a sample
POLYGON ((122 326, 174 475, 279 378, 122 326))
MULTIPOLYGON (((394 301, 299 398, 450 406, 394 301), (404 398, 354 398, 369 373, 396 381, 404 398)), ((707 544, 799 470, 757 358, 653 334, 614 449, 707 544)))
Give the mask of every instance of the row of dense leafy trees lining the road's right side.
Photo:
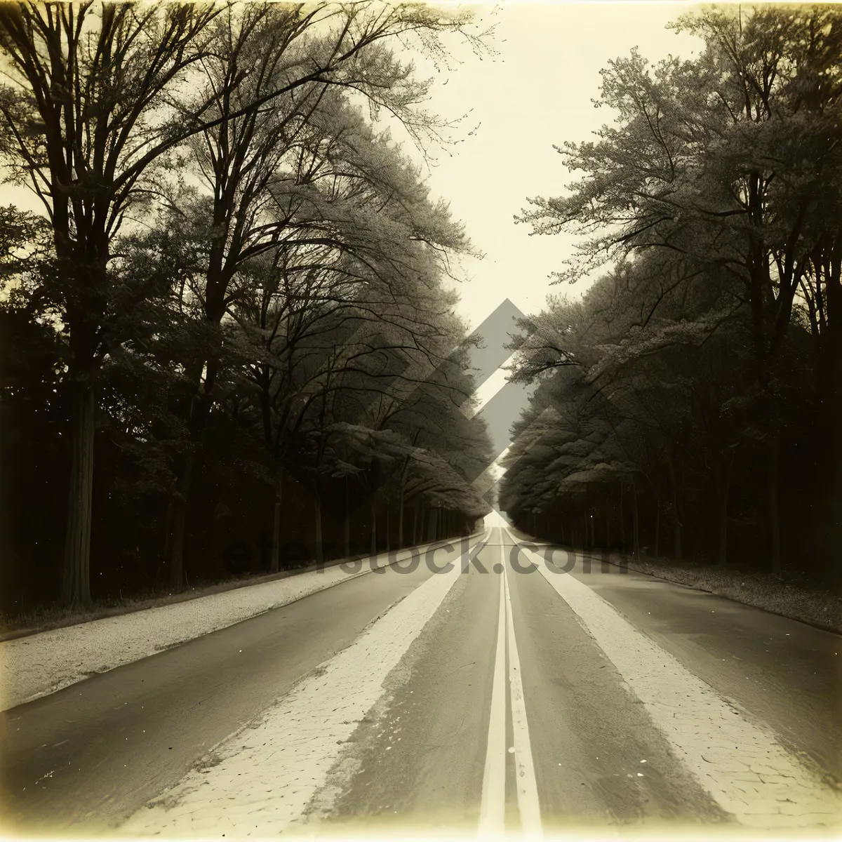
POLYGON ((530 200, 583 235, 580 301, 520 325, 539 381, 501 504, 578 546, 807 570, 842 547, 842 13, 711 8, 695 59, 602 72, 613 109, 558 149, 583 173, 530 200))

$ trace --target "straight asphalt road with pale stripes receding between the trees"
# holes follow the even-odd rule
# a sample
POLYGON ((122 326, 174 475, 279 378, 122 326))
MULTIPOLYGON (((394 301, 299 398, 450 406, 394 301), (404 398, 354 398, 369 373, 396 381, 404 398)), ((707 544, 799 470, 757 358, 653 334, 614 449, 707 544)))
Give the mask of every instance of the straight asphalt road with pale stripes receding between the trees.
POLYGON ((838 636, 530 546, 495 521, 5 711, 3 816, 229 838, 838 832, 838 636))

